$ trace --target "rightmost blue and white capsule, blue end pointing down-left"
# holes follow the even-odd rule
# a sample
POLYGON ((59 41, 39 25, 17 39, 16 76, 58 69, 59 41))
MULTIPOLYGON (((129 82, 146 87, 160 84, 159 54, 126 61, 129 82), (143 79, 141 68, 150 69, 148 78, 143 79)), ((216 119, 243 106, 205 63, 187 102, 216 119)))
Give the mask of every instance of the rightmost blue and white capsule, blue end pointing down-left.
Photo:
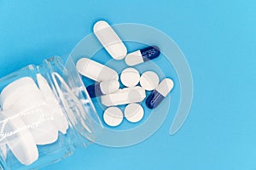
POLYGON ((148 96, 146 105, 149 109, 154 109, 166 98, 166 96, 172 91, 174 84, 172 79, 166 78, 154 89, 154 91, 148 96))

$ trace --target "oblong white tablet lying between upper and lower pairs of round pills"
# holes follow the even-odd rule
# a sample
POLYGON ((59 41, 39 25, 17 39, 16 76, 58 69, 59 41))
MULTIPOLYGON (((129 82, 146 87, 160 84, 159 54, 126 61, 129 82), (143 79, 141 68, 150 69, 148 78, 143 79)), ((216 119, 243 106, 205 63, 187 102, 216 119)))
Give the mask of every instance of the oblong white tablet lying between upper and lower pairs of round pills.
POLYGON ((102 104, 106 106, 125 105, 143 101, 145 90, 139 86, 119 89, 113 94, 102 95, 102 104))

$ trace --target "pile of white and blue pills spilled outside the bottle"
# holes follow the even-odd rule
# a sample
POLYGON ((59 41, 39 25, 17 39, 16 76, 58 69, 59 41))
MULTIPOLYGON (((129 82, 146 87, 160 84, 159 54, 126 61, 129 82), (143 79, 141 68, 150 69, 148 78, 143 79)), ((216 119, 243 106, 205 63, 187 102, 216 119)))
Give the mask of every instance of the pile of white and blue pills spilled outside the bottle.
POLYGON ((102 105, 108 107, 103 114, 103 120, 108 126, 119 126, 124 116, 129 122, 140 122, 144 116, 143 106, 140 103, 146 99, 149 109, 156 108, 171 92, 173 82, 170 78, 165 78, 160 82, 159 76, 154 71, 145 71, 141 75, 131 66, 159 57, 160 49, 156 46, 149 46, 127 54, 125 44, 106 21, 96 22, 93 31, 108 54, 116 60, 125 59, 128 67, 119 76, 113 68, 92 59, 79 59, 76 64, 79 73, 96 82, 87 87, 90 97, 100 97, 102 105), (119 88, 119 80, 125 88, 119 88), (152 91, 148 98, 146 91, 152 91), (118 105, 126 105, 124 113, 118 105))

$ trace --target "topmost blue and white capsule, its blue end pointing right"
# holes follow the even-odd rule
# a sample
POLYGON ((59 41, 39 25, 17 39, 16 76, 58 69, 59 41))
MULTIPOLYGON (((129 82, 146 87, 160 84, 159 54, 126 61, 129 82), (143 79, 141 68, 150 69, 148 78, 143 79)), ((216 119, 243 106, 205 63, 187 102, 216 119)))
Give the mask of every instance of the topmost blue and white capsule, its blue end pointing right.
POLYGON ((158 58, 160 56, 160 49, 157 46, 149 46, 127 54, 125 57, 125 63, 133 66, 146 62, 151 59, 158 58))

